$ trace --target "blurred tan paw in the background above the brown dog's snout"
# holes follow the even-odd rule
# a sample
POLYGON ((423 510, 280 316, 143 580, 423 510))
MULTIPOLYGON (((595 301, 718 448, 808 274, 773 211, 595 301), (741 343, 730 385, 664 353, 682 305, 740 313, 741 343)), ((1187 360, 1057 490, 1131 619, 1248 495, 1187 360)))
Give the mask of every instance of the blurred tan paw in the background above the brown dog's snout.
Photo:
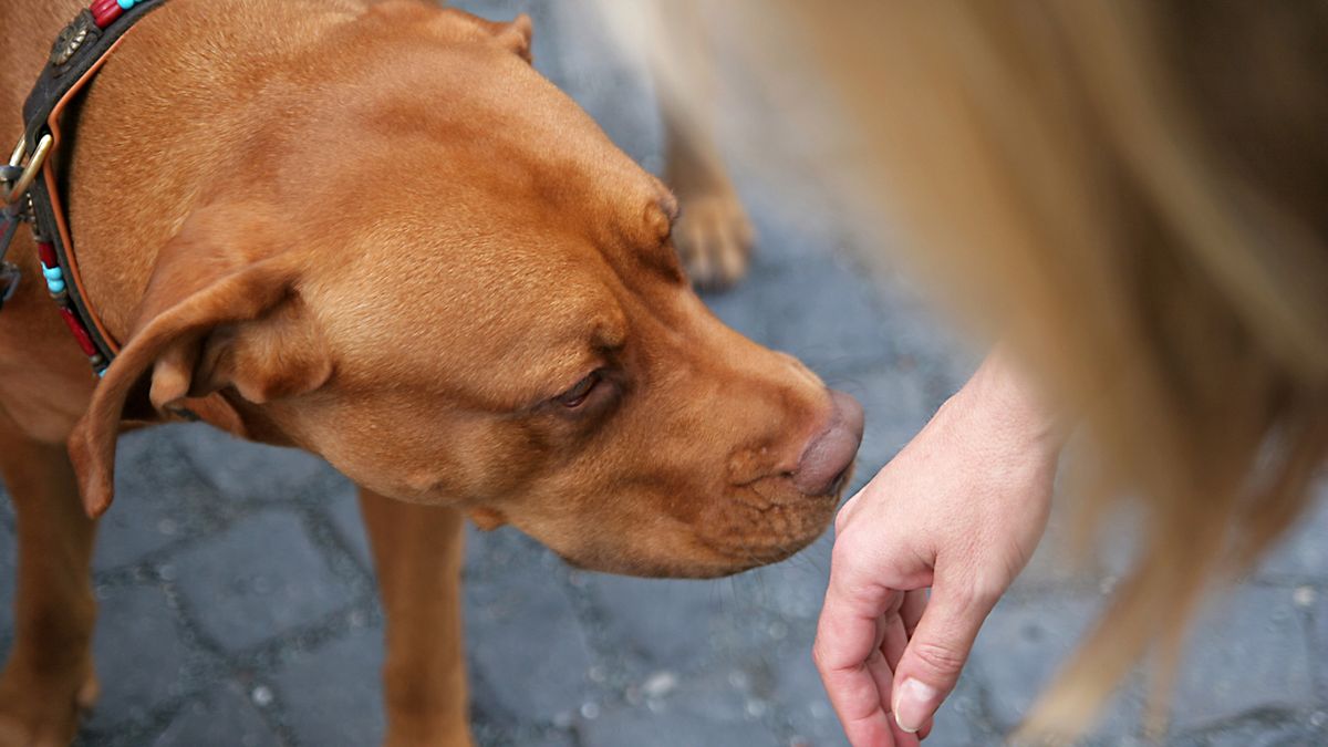
POLYGON ((673 246, 692 284, 722 290, 746 275, 756 231, 742 201, 728 185, 679 195, 683 211, 673 246))

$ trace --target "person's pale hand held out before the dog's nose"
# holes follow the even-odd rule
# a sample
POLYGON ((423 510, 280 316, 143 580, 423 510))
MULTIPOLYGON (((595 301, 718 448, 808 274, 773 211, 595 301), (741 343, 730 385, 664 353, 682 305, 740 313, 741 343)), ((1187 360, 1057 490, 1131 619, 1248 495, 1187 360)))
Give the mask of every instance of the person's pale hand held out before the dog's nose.
POLYGON ((839 510, 813 654, 855 747, 931 730, 1046 526, 1060 444, 993 355, 839 510))

